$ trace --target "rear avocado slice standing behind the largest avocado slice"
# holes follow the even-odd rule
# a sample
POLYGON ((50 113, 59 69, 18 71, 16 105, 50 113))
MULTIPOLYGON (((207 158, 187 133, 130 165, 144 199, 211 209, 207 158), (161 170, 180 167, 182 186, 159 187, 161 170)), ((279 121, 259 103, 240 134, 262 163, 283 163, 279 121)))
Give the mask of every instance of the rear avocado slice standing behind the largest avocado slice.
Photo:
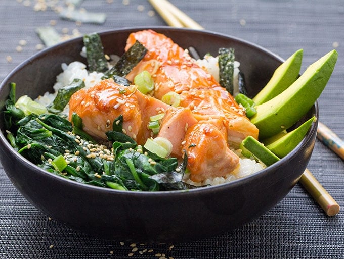
POLYGON ((269 82, 254 96, 253 101, 256 105, 261 105, 280 94, 297 79, 300 73, 303 54, 303 49, 297 50, 275 70, 269 82))

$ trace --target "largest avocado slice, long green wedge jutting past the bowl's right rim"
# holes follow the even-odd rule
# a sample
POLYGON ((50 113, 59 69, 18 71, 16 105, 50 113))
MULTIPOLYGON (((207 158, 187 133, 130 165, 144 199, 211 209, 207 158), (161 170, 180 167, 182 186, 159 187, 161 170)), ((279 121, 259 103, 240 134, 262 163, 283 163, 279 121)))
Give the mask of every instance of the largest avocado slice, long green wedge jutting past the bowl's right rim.
POLYGON ((337 51, 331 50, 283 92, 255 106, 256 114, 250 120, 259 129, 260 140, 288 129, 311 109, 325 88, 337 57, 337 51))

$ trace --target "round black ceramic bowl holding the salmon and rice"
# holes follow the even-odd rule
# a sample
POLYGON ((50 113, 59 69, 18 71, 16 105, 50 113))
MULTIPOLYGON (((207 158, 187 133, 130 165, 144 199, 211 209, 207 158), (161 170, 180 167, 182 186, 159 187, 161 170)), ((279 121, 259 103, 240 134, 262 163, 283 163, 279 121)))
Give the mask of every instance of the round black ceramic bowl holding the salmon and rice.
MULTIPOLYGON (((124 28, 100 33, 107 54, 123 53, 129 33, 124 28)), ((201 55, 217 55, 219 47, 234 47, 248 94, 254 96, 270 79, 282 59, 270 51, 227 35, 189 29, 153 27, 182 47, 201 55)), ((0 110, 16 82, 17 96, 33 98, 52 90, 61 63, 80 57, 82 38, 41 51, 19 65, 0 86, 0 110)), ((317 105, 302 122, 318 117, 317 105)), ((42 213, 79 231, 120 241, 179 242, 218 235, 261 216, 296 184, 313 151, 317 124, 304 140, 274 165, 231 183, 189 191, 133 192, 79 184, 39 169, 20 156, 4 136, 0 120, 1 163, 19 192, 42 213)))

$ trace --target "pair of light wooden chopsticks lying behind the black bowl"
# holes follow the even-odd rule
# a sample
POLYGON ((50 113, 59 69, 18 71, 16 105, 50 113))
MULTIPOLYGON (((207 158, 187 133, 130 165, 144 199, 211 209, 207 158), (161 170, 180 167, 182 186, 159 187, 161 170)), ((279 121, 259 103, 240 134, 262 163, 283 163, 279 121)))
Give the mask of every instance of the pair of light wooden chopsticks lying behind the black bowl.
MULTIPOLYGON (((167 0, 148 0, 164 21, 173 27, 186 27, 192 29, 204 29, 201 25, 192 20, 184 12, 179 10, 176 6, 169 3, 167 0)), ((344 159, 344 143, 341 141, 329 128, 319 122, 318 138, 336 152, 342 159, 344 159)), ((339 212, 338 203, 332 196, 324 189, 312 173, 306 169, 299 179, 304 188, 311 194, 311 196, 318 202, 321 208, 328 216, 334 216, 339 212)))

